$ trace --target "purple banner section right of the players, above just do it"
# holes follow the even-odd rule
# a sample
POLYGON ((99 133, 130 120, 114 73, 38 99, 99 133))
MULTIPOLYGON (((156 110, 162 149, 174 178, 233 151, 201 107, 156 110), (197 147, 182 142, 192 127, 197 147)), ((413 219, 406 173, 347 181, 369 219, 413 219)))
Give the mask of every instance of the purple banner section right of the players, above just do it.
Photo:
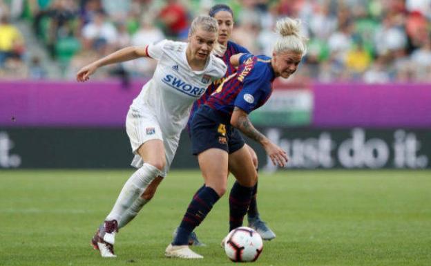
POLYGON ((313 126, 431 127, 431 84, 314 84, 313 126))

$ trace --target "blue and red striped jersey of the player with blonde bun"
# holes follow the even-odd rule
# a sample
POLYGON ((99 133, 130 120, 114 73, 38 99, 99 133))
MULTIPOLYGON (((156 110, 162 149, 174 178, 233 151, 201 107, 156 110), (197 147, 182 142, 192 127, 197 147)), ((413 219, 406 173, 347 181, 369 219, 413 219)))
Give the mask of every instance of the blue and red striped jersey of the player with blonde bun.
POLYGON ((271 57, 242 55, 238 71, 224 79, 205 104, 229 115, 235 106, 250 113, 267 102, 275 78, 271 57))

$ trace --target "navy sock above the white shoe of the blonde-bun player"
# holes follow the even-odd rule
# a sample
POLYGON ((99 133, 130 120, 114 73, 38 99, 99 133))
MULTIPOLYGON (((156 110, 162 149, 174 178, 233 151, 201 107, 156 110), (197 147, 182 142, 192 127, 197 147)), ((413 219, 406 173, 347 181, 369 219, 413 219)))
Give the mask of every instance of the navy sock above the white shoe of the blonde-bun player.
POLYGON ((191 200, 184 217, 182 218, 178 234, 172 245, 187 245, 191 232, 200 225, 207 216, 213 205, 220 198, 218 193, 211 187, 201 187, 191 200))

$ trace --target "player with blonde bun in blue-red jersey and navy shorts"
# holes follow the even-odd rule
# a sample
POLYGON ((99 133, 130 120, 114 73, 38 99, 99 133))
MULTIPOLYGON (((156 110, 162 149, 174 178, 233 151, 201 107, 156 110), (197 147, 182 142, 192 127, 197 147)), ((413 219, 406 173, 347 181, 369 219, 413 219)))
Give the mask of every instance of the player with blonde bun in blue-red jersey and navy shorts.
POLYGON ((257 172, 239 131, 259 142, 274 164, 284 167, 287 162, 285 151, 257 131, 248 117, 251 111, 265 104, 271 95, 274 79, 293 74, 306 53, 305 38, 300 35, 300 21, 280 19, 277 30, 280 37, 273 57, 233 55, 230 60, 233 65, 240 65, 238 72, 224 79, 193 115, 193 153, 198 155, 205 186, 191 200, 177 236, 166 247, 165 256, 203 258, 187 245, 189 236, 226 191, 228 171, 238 181, 229 196, 229 226, 232 230, 242 225, 257 172))

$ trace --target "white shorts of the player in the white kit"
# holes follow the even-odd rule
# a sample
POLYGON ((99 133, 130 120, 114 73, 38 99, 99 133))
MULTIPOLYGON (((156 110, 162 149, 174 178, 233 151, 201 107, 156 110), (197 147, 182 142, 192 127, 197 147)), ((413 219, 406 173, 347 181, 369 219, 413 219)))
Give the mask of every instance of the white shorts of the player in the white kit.
POLYGON ((144 164, 144 160, 137 154, 137 149, 149 140, 162 140, 166 156, 166 166, 161 175, 163 178, 166 177, 177 151, 181 132, 174 137, 166 137, 160 129, 157 117, 151 111, 138 111, 132 108, 127 113, 126 132, 131 142, 132 151, 135 154, 131 165, 136 168, 140 168, 144 164))

